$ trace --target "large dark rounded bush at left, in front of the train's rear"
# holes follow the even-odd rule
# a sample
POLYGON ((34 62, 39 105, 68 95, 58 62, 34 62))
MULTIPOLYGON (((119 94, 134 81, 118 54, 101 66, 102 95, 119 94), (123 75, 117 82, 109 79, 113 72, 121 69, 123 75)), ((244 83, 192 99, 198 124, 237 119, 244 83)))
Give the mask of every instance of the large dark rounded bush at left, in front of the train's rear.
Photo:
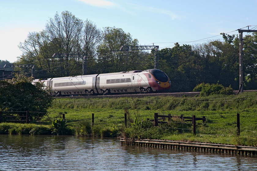
MULTIPOLYGON (((12 80, 0 81, 0 109, 2 111, 33 111, 32 117, 41 117, 50 107, 53 97, 43 83, 32 84, 33 77, 16 75, 12 80), (43 112, 43 113, 41 113, 43 112)), ((36 118, 35 118, 36 119, 36 118)))

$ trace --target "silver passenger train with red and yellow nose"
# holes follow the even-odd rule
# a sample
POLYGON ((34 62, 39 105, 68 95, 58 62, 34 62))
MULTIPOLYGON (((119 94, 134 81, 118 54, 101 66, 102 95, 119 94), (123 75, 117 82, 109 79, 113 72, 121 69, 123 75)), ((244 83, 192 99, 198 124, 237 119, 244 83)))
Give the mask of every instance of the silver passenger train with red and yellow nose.
MULTIPOLYGON (((42 80, 35 79, 33 82, 38 81, 42 80)), ((171 88, 169 77, 158 69, 48 78, 43 85, 51 87, 53 96, 150 93, 171 88)))

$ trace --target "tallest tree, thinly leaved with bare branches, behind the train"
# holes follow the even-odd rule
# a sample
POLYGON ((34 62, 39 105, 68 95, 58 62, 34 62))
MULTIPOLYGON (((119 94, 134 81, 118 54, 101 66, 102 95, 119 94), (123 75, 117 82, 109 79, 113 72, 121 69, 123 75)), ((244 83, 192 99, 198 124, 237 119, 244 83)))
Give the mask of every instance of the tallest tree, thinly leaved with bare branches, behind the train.
MULTIPOLYGON (((83 21, 72 13, 63 11, 61 16, 55 14, 54 19, 46 24, 49 41, 53 43, 56 53, 78 53, 77 46, 83 28, 83 21)), ((69 56, 60 58, 60 69, 65 70, 65 76, 69 76, 74 65, 69 63, 69 56)), ((73 59, 74 60, 74 59, 73 59)))

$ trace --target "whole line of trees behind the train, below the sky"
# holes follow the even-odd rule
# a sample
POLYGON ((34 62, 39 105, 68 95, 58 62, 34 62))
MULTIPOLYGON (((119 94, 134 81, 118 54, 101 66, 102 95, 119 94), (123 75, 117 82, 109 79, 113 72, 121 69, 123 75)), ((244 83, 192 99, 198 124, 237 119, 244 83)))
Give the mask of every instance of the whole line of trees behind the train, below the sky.
MULTIPOLYGON (((224 40, 199 45, 179 45, 159 50, 159 69, 172 82, 173 92, 192 91, 200 83, 222 84, 239 88, 239 39, 222 33, 224 40)), ((257 35, 244 37, 244 89, 257 88, 257 35)), ((87 74, 153 68, 153 53, 117 51, 123 45, 139 45, 121 28, 99 29, 90 20, 80 20, 64 11, 50 18, 45 29, 31 32, 19 48, 23 51, 17 63, 35 65, 35 78, 62 77, 82 74, 81 57, 53 57, 54 53, 86 56, 87 74)), ((31 68, 17 68, 31 73, 31 68), (28 70, 28 71, 26 71, 28 70)))

